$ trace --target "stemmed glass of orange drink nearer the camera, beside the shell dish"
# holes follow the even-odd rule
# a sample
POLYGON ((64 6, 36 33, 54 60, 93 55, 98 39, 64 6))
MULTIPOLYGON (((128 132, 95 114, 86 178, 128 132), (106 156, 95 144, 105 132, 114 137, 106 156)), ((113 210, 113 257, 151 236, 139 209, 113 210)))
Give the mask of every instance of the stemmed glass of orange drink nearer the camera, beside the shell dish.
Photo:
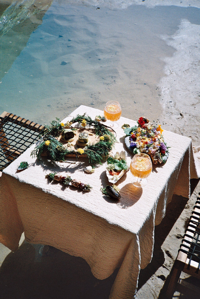
POLYGON ((149 155, 145 153, 134 155, 131 160, 130 170, 133 175, 132 184, 135 187, 144 187, 147 184, 146 178, 152 170, 152 162, 149 155))

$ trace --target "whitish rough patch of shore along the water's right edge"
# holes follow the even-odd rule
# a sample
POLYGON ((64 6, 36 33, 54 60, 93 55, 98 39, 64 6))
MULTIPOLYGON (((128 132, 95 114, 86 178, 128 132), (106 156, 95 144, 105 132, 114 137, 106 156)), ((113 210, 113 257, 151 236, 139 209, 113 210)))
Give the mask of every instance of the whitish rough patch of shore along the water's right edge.
POLYGON ((174 106, 183 112, 199 115, 200 104, 200 25, 182 20, 173 36, 163 36, 176 49, 172 57, 164 59, 165 74, 159 82, 161 103, 166 110, 174 106), (195 108, 196 107, 196 108, 195 108))

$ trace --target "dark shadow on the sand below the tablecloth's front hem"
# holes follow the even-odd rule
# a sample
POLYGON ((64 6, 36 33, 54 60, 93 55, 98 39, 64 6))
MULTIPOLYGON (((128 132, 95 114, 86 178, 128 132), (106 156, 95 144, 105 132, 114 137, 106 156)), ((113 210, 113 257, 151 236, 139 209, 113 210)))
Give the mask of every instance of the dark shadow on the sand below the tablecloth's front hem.
POLYGON ((0 268, 1 299, 108 299, 117 271, 98 280, 82 258, 53 247, 40 255, 40 247, 24 241, 7 255, 0 268))

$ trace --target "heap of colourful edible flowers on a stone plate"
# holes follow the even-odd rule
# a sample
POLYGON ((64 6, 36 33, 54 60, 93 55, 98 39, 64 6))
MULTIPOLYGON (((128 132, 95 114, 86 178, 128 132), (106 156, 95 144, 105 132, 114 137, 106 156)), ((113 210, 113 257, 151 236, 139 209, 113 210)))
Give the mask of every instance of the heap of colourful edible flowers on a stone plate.
POLYGON ((138 126, 124 129, 128 138, 125 144, 134 154, 144 152, 150 155, 154 164, 165 163, 168 159, 168 147, 162 136, 160 125, 152 124, 148 119, 140 117, 138 126))

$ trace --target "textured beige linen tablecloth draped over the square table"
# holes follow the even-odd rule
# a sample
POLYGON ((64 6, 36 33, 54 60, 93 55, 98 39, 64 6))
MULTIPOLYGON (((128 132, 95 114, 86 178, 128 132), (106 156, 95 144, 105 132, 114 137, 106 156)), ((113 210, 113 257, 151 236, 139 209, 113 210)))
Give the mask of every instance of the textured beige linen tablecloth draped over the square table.
MULTIPOLYGON (((87 112, 93 119, 103 112, 80 106, 68 118, 87 112)), ((113 152, 126 150, 122 124, 136 122, 121 117, 113 152)), ((154 246, 154 226, 165 216, 172 195, 190 197, 190 179, 198 178, 199 152, 196 161, 190 138, 164 131, 169 148, 165 165, 154 166, 148 184, 135 188, 130 171, 117 182, 120 202, 113 202, 100 191, 108 183, 106 165, 94 173, 85 173, 87 159, 76 164, 51 163, 43 158, 30 157, 34 146, 28 149, 2 174, 0 180, 0 242, 17 250, 22 232, 27 242, 54 246, 69 254, 83 257, 95 277, 105 279, 116 268, 117 277, 110 299, 131 299, 137 290, 140 268, 151 261, 154 246), (16 169, 21 161, 29 168, 16 169), (84 193, 72 187, 49 182, 50 172, 67 172, 93 189, 84 193)), ((128 164, 132 154, 128 152, 128 164)), ((74 158, 69 158, 69 160, 74 158)))

